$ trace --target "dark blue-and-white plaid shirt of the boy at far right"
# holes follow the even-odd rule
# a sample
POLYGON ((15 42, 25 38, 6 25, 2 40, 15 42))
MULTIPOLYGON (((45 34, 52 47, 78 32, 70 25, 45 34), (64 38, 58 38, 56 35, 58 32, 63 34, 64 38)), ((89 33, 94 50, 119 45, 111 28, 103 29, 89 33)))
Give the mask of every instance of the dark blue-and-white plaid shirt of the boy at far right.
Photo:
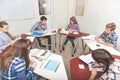
POLYGON ((104 42, 108 42, 110 44, 113 45, 113 47, 117 47, 117 39, 118 39, 118 36, 115 32, 112 32, 111 34, 106 34, 105 32, 103 32, 103 34, 100 35, 101 36, 101 39, 104 41, 104 42))

